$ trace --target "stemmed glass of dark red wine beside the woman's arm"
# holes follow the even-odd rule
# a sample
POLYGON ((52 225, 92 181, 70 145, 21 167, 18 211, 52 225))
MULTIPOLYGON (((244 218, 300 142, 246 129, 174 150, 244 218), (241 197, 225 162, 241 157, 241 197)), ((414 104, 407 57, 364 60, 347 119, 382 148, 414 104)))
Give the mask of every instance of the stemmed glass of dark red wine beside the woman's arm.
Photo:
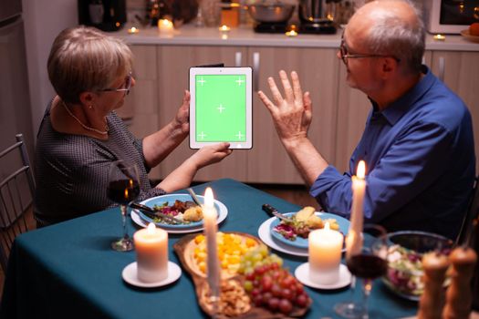
POLYGON ((127 204, 140 194, 138 166, 125 160, 117 160, 109 167, 109 186, 107 190, 111 201, 120 204, 123 221, 123 237, 111 242, 111 248, 117 252, 133 250, 133 241, 127 232, 127 204))

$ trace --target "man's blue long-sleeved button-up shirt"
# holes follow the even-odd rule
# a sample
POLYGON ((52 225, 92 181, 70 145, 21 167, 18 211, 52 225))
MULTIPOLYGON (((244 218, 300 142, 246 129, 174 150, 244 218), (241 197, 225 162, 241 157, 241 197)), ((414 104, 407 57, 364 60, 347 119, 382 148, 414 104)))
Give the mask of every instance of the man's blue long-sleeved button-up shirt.
POLYGON ((310 194, 326 211, 349 217, 351 176, 365 160, 365 222, 388 232, 421 230, 455 238, 472 193, 475 174, 469 110, 424 69, 409 92, 378 111, 375 103, 354 150, 349 171, 328 166, 310 194))

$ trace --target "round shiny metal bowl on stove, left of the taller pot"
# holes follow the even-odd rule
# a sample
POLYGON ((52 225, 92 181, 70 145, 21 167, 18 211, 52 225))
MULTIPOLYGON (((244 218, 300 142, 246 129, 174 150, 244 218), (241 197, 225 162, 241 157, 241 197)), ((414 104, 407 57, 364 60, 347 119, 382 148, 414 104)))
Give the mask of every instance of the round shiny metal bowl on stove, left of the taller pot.
POLYGON ((262 1, 254 5, 247 5, 248 12, 258 23, 282 23, 289 20, 295 5, 284 4, 279 0, 262 1))

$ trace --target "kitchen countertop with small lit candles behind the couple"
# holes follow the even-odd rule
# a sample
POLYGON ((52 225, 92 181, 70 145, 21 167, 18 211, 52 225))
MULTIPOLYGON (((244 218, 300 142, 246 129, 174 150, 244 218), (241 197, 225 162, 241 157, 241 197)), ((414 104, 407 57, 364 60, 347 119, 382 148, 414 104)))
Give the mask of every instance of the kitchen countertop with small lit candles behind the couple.
MULTIPOLYGON (((288 47, 332 47, 337 48, 341 33, 336 35, 298 35, 259 34, 251 26, 232 28, 223 39, 217 27, 195 27, 184 25, 173 31, 170 36, 161 35, 157 27, 141 27, 137 34, 129 34, 132 25, 124 26, 120 31, 111 33, 124 39, 131 45, 172 45, 172 46, 288 46, 288 47)), ((444 41, 436 41, 432 35, 426 36, 427 50, 479 51, 479 43, 463 36, 445 36, 444 41)))

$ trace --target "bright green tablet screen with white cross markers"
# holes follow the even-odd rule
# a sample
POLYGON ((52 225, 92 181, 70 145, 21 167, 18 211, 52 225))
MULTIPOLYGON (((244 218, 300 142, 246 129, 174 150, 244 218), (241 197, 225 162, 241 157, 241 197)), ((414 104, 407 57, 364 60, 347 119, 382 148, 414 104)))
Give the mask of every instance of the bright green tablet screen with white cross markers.
POLYGON ((196 141, 246 140, 246 76, 195 76, 196 141))

